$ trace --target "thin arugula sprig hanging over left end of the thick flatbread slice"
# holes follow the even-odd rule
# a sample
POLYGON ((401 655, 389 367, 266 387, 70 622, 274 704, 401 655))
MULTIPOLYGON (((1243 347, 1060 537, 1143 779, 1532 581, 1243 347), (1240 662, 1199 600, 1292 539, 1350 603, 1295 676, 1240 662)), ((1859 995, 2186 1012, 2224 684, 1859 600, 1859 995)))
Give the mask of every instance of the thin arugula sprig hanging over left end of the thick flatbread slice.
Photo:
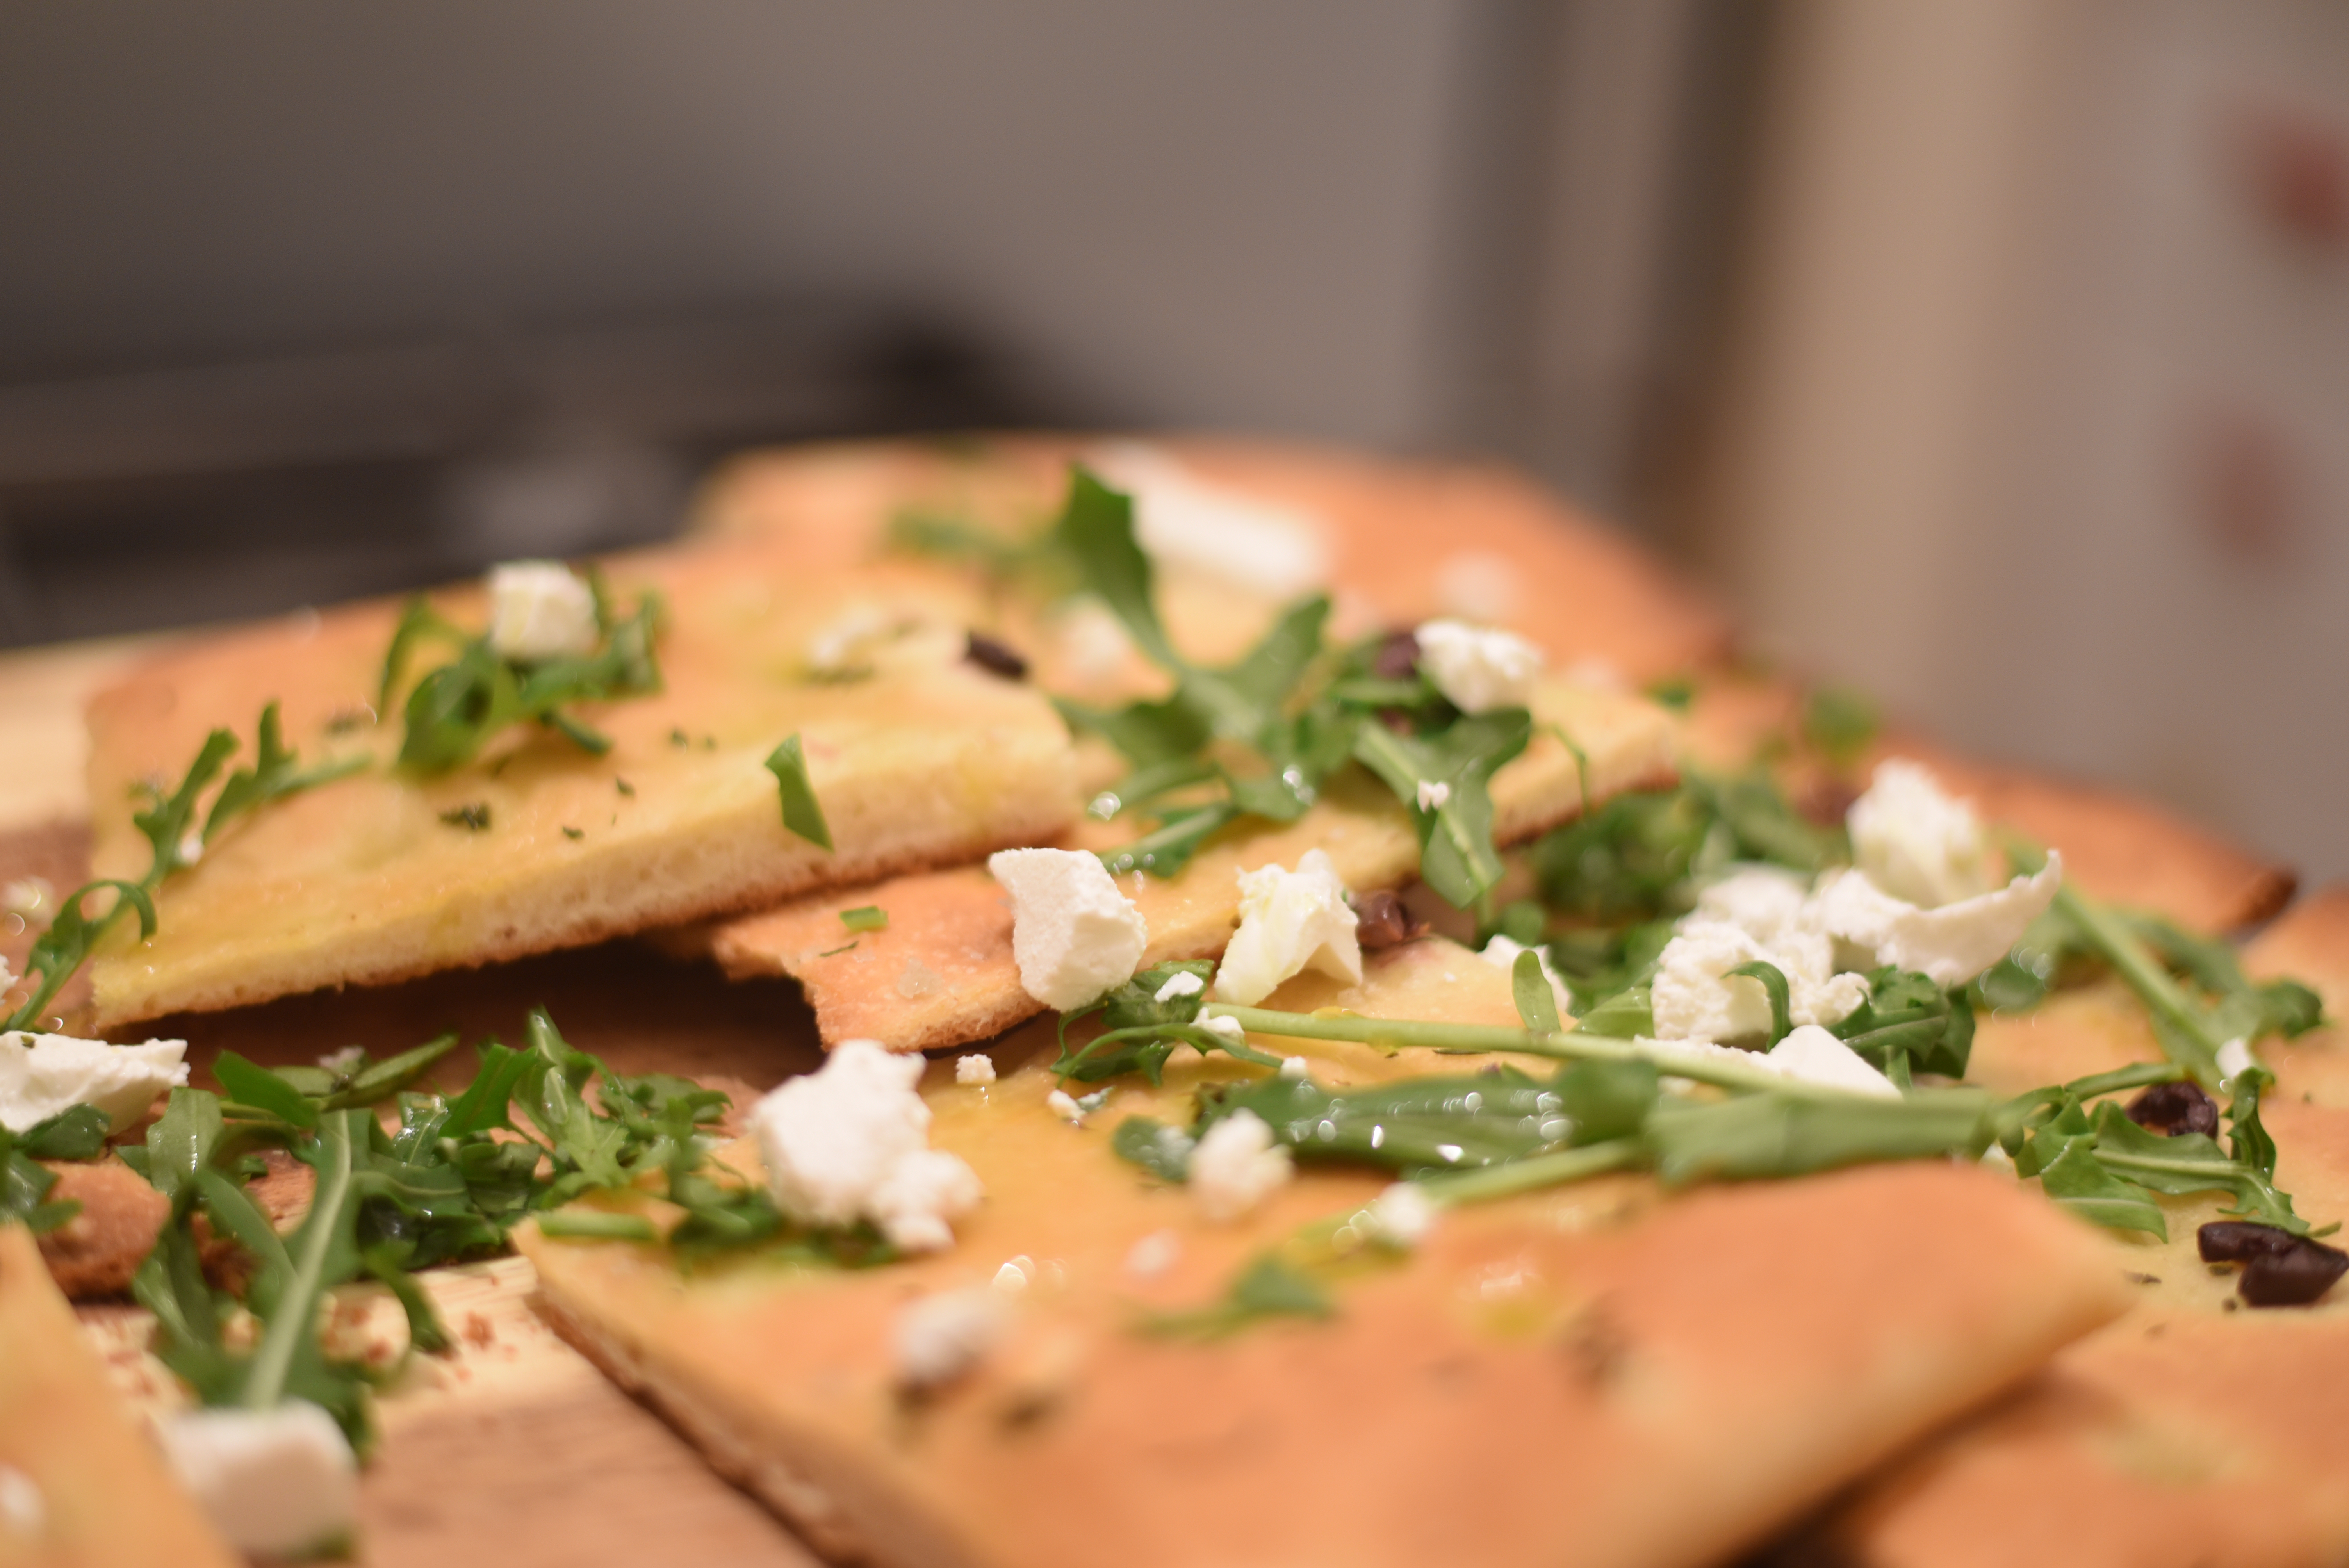
POLYGON ((56 918, 49 920, 49 930, 33 941, 33 951, 23 960, 26 979, 40 976, 23 1005, 0 1021, 0 1030, 16 1028, 40 1028, 40 1021, 49 1012, 49 1002, 66 981, 89 962, 89 953, 99 946, 99 939, 110 932, 124 913, 139 915, 139 939, 146 941, 155 934, 155 894, 162 890, 164 880, 193 866, 202 854, 204 845, 211 843, 226 826, 235 824, 240 817, 258 812, 272 800, 284 800, 305 789, 317 789, 319 784, 331 784, 334 779, 348 777, 359 768, 366 768, 364 756, 343 758, 338 763, 322 763, 317 768, 298 768, 296 753, 284 744, 277 728, 277 704, 261 709, 261 723, 254 735, 254 765, 240 768, 221 784, 221 791, 211 798, 211 812, 204 817, 202 831, 197 831, 197 807, 202 805, 204 791, 211 782, 221 777, 221 768, 237 751, 237 737, 230 730, 214 730, 204 737, 202 749, 197 749, 195 761, 188 763, 188 772, 181 777, 179 789, 164 793, 162 786, 146 789, 148 805, 132 812, 132 824, 148 840, 153 861, 148 871, 136 883, 124 883, 117 878, 103 878, 96 883, 85 883, 68 892, 59 906, 56 918), (89 915, 85 901, 110 890, 115 897, 106 906, 106 913, 89 915))

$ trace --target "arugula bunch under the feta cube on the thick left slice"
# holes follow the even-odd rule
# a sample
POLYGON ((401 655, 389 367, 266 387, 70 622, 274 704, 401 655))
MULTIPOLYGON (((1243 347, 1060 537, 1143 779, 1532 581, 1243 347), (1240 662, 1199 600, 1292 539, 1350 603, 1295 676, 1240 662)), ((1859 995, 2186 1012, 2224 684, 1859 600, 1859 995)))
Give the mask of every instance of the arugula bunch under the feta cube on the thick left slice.
POLYGON ((653 643, 660 634, 660 596, 644 594, 637 608, 618 615, 594 587, 597 646, 585 657, 559 657, 524 664, 489 646, 489 634, 472 636, 428 601, 413 599, 399 615, 392 643, 383 653, 378 707, 390 714, 406 683, 409 662, 418 648, 439 643, 453 648, 446 664, 428 669, 406 688, 402 704, 399 765, 423 775, 463 768, 510 725, 536 723, 564 735, 580 751, 604 756, 611 737, 568 711, 580 702, 644 697, 660 690, 660 660, 653 643))

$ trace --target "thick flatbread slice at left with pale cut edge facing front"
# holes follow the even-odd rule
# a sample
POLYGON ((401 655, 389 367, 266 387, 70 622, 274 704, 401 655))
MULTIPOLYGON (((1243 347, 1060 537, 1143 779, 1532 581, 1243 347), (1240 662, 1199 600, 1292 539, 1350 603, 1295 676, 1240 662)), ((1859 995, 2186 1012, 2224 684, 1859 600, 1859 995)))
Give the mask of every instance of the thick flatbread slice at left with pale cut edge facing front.
MULTIPOLYGON (((987 606, 918 566, 810 573, 770 547, 611 566, 613 594, 667 601, 665 690, 583 714, 590 756, 514 728, 456 772, 390 765, 397 718, 371 702, 397 608, 275 622, 155 660, 92 702, 92 859, 139 878, 134 784, 176 779, 214 725, 251 751, 280 702, 305 763, 373 765, 240 822, 92 965, 96 1026, 381 984, 756 908, 810 887, 1041 843, 1076 810, 1066 728, 1031 688, 961 657, 987 606), (843 615, 916 627, 869 678, 817 681, 810 646, 843 615), (928 653, 923 653, 928 650, 928 653), (916 657, 918 655, 918 657, 916 657), (801 735, 832 850, 785 831, 768 753, 801 735), (479 826, 470 826, 479 824, 479 826)), ((442 596, 460 627, 477 592, 442 596)))

